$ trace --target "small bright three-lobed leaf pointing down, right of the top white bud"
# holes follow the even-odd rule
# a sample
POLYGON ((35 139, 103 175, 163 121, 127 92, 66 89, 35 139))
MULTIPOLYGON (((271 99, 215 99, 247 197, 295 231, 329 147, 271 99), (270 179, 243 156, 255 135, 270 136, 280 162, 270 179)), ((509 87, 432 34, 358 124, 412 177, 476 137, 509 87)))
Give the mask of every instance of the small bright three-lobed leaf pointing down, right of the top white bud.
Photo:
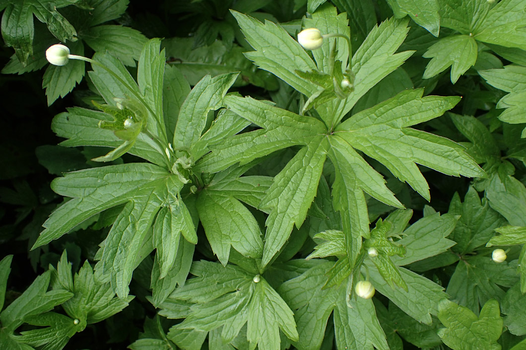
POLYGON ((425 54, 429 61, 423 79, 429 79, 451 66, 451 82, 454 84, 477 61, 477 43, 467 35, 453 35, 433 44, 425 54))

